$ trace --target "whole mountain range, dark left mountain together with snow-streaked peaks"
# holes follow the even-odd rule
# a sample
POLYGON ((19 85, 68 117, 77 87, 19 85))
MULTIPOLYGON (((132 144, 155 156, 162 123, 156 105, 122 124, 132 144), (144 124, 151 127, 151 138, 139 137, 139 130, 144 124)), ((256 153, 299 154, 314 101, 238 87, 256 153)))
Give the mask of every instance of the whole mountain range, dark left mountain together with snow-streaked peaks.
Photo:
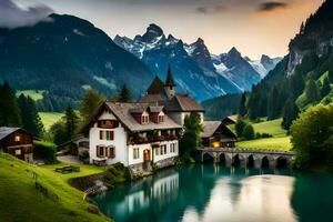
POLYGON ((278 59, 251 61, 232 48, 210 53, 204 41, 186 44, 151 24, 133 40, 112 40, 87 20, 51 14, 47 21, 16 29, 0 28, 0 82, 17 90, 43 90, 39 109, 62 111, 77 107, 84 90, 109 95, 127 83, 133 98, 145 92, 154 75, 164 79, 168 65, 178 90, 202 101, 250 90, 278 59))

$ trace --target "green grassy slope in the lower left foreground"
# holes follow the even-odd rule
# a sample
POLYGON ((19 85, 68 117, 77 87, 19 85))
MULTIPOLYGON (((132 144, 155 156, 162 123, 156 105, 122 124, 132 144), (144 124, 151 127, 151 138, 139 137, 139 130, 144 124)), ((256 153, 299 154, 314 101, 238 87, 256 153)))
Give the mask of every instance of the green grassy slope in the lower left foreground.
POLYGON ((99 173, 104 169, 80 165, 80 173, 60 174, 53 172, 56 167, 59 165, 36 167, 0 153, 0 221, 109 221, 102 214, 89 213, 90 204, 82 200, 83 193, 67 182, 72 176, 99 173), (34 189, 32 171, 38 174, 39 182, 59 195, 59 201, 34 189))

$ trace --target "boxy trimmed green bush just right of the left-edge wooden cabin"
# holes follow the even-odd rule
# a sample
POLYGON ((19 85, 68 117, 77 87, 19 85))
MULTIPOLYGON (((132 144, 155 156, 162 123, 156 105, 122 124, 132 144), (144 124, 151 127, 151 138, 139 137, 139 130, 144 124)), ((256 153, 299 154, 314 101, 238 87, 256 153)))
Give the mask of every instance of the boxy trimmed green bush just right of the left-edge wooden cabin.
POLYGON ((34 142, 33 155, 46 161, 46 163, 51 164, 57 162, 56 158, 57 147, 50 142, 34 142))

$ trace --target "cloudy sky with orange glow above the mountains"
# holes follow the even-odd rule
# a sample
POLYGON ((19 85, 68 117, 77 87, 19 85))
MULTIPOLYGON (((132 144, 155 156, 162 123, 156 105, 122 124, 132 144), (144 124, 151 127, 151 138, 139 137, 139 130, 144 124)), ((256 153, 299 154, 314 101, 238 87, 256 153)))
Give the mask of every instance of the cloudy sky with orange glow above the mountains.
POLYGON ((186 43, 202 38, 211 53, 235 47, 259 59, 285 56, 301 22, 323 0, 0 0, 0 14, 1 2, 17 4, 30 23, 52 10, 87 19, 111 38, 133 38, 155 23, 186 43))

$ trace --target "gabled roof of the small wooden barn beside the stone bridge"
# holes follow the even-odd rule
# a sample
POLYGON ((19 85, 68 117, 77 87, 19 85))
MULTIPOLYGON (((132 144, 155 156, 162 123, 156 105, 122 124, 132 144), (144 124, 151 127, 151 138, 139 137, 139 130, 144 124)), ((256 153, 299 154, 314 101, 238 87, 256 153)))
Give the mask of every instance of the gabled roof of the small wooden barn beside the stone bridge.
POLYGON ((202 123, 203 132, 201 133, 201 138, 211 138, 213 134, 221 128, 223 132, 223 138, 231 138, 236 140, 236 135, 225 127, 221 121, 204 121, 202 123))

